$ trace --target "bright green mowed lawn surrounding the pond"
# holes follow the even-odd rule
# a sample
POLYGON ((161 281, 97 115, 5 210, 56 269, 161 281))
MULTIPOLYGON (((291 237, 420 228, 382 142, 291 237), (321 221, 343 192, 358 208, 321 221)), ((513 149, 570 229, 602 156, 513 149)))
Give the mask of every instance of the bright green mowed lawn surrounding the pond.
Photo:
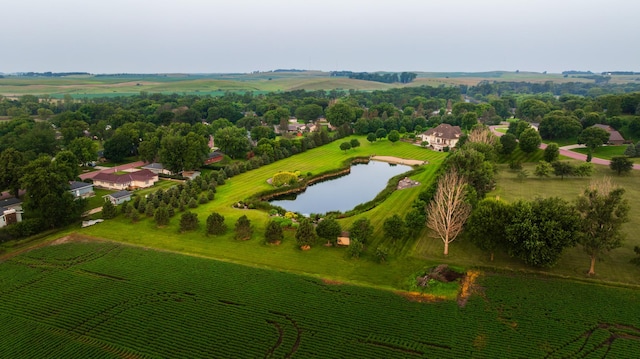
MULTIPOLYGON (((301 173, 318 174, 340 168, 346 159, 373 154, 429 162, 428 165, 425 165, 426 170, 414 178, 422 183, 420 187, 396 191, 381 206, 360 215, 370 217, 376 227, 374 243, 384 241, 382 232, 384 219, 393 213, 401 214, 404 217, 420 191, 433 180, 434 173, 446 157, 446 153, 434 152, 404 142, 392 144, 383 140, 369 143, 362 136, 349 137, 228 179, 224 185, 217 187, 213 201, 191 209, 198 215, 200 221, 200 227, 196 231, 179 233, 181 213, 177 212, 165 228, 157 228, 154 221, 145 216, 141 216, 140 222, 131 223, 130 219, 120 215, 99 225, 79 230, 79 232, 144 247, 398 288, 404 285, 406 276, 426 264, 422 259, 402 258, 400 254, 406 251, 403 249, 405 244, 399 244, 401 250, 396 251, 389 263, 383 265, 366 257, 359 260, 347 259, 344 248, 327 248, 322 246, 321 242, 310 251, 300 251, 296 248, 293 230, 286 231, 285 240, 280 246, 264 245, 262 241, 264 229, 269 221, 268 214, 264 211, 233 207, 236 202, 259 191, 271 189, 267 179, 279 171, 297 170, 301 173), (340 150, 340 142, 349 141, 351 138, 358 138, 361 147, 346 153, 340 150), (228 227, 225 235, 205 235, 206 219, 212 212, 218 212, 225 217, 225 223, 228 227), (233 239, 235 222, 242 215, 246 215, 251 220, 254 229, 253 237, 248 241, 233 239)), ((348 229, 350 223, 357 218, 341 220, 343 229, 348 229)), ((412 244, 412 242, 407 242, 406 245, 411 246, 412 244)), ((375 247, 372 246, 369 251, 374 249, 375 247)))

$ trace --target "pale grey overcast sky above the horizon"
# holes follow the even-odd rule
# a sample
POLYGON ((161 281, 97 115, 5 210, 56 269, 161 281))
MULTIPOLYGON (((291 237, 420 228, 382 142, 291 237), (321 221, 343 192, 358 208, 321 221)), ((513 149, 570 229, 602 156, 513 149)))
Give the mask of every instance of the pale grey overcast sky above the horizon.
POLYGON ((0 72, 640 71, 634 0, 5 0, 0 72))

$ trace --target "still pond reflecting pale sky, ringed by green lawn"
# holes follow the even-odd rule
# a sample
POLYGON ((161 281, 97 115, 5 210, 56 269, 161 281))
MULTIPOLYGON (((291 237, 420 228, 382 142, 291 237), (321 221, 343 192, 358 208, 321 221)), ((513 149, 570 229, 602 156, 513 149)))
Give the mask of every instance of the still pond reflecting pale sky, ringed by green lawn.
POLYGON ((411 170, 407 165, 370 161, 351 166, 351 173, 309 186, 297 195, 277 197, 271 204, 287 211, 302 213, 345 212, 376 197, 391 177, 411 170))

